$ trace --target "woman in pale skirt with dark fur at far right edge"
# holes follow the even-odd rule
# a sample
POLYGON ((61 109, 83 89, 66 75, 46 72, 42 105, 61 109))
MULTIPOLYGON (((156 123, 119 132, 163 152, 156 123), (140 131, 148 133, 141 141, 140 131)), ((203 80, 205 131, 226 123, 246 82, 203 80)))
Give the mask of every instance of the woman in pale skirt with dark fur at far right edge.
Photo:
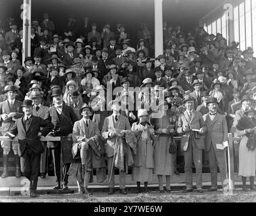
POLYGON ((238 175, 242 176, 242 190, 247 191, 246 180, 250 178, 250 189, 256 190, 254 187, 255 177, 255 145, 256 145, 256 111, 249 107, 245 110, 245 115, 238 121, 237 135, 242 136, 239 146, 239 169, 238 175), (252 136, 253 143, 247 144, 249 137, 252 136), (251 148, 249 148, 251 147, 251 148))

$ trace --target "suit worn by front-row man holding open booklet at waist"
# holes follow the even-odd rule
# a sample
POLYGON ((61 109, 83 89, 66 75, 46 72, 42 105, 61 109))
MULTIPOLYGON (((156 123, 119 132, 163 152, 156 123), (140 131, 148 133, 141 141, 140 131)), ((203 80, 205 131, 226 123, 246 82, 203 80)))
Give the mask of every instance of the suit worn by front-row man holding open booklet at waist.
POLYGON ((206 132, 205 122, 203 121, 203 115, 198 111, 193 111, 191 117, 188 116, 188 112, 184 111, 178 118, 177 132, 182 134, 180 140, 180 148, 184 151, 185 161, 185 173, 186 173, 186 188, 192 189, 193 177, 192 177, 192 161, 195 163, 197 173, 197 188, 202 188, 202 151, 205 149, 205 143, 202 136, 196 138, 195 133, 192 130, 183 132, 182 128, 189 126, 190 129, 203 129, 203 133, 206 132))

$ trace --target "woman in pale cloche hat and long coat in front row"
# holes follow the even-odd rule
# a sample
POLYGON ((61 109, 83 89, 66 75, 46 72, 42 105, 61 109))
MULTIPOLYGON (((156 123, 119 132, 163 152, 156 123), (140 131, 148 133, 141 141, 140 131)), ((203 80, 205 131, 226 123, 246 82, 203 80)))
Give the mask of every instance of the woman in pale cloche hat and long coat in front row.
POLYGON ((132 180, 137 182, 137 192, 139 193, 141 192, 140 182, 144 182, 145 192, 147 192, 147 183, 151 182, 153 178, 153 140, 155 132, 147 121, 148 113, 146 109, 138 110, 138 118, 139 121, 132 124, 132 131, 137 139, 137 153, 134 156, 132 180))

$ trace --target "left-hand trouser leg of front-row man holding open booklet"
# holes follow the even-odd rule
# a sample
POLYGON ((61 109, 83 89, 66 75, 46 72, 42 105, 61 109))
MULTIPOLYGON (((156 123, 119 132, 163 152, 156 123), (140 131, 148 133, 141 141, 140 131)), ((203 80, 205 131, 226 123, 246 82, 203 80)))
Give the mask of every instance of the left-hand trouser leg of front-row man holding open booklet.
POLYGON ((192 175, 192 144, 188 143, 188 148, 184 151, 184 171, 186 174, 186 189, 193 188, 193 175, 192 175))

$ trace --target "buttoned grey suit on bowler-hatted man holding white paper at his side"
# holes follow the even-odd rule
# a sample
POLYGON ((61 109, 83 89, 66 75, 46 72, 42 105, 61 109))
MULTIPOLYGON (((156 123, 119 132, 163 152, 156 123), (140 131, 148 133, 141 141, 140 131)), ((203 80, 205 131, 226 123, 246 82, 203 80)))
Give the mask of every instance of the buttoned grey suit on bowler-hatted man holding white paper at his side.
POLYGON ((217 189, 217 167, 222 176, 222 185, 226 179, 226 151, 217 149, 217 144, 228 141, 228 126, 226 117, 217 113, 213 120, 209 113, 203 116, 207 127, 205 134, 205 151, 209 152, 209 166, 211 171, 211 187, 217 189))

